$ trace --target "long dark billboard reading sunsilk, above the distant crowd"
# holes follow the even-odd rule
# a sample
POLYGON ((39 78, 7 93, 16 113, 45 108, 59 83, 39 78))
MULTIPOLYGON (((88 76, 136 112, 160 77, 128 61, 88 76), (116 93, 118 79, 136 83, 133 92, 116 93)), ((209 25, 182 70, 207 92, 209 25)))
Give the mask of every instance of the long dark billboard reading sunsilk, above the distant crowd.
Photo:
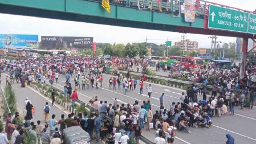
POLYGON ((41 46, 45 48, 92 48, 94 38, 72 36, 41 36, 41 46))

